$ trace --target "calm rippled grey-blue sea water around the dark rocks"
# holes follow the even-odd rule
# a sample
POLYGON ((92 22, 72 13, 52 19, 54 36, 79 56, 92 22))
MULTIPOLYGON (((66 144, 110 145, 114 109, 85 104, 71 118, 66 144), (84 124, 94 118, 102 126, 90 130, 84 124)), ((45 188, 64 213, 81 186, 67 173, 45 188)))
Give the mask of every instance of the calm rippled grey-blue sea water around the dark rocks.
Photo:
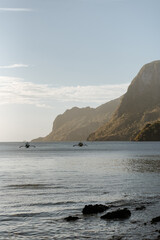
POLYGON ((73 144, 0 143, 0 239, 158 239, 160 223, 150 222, 160 216, 160 142, 73 144), (97 203, 131 217, 83 216, 97 203), (79 219, 66 222, 70 215, 79 219))

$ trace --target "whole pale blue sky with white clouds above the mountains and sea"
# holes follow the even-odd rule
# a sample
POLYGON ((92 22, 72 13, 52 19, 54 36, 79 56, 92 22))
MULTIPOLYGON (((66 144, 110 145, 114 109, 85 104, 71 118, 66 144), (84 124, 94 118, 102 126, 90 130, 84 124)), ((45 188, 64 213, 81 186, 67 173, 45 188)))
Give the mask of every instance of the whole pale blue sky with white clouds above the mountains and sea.
POLYGON ((159 0, 0 0, 0 142, 123 95, 160 59, 159 0))

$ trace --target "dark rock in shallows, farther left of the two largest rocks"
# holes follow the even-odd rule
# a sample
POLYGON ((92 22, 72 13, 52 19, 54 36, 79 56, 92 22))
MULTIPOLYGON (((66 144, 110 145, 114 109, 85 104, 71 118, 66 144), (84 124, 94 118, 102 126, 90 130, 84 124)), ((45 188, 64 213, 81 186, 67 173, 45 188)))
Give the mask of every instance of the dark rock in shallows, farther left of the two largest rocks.
POLYGON ((95 204, 95 205, 85 205, 85 207, 82 210, 83 214, 95 214, 95 213, 101 213, 108 209, 106 205, 103 204, 95 204))

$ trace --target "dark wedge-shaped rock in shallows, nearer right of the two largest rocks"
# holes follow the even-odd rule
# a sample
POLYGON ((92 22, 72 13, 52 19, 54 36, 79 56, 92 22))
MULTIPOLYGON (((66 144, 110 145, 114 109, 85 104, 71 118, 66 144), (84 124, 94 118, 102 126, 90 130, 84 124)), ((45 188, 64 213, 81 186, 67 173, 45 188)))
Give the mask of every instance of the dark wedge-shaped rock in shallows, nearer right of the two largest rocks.
POLYGON ((113 212, 109 212, 103 216, 101 216, 102 219, 126 219, 131 216, 131 212, 127 209, 118 209, 113 212))

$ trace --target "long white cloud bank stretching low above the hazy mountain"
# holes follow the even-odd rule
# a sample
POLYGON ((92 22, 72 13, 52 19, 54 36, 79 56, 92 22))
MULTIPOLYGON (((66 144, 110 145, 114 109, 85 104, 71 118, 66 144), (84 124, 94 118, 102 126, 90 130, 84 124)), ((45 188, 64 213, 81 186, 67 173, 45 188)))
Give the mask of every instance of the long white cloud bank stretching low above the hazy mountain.
POLYGON ((0 104, 33 104, 49 108, 57 102, 102 104, 123 95, 128 85, 53 87, 21 78, 0 76, 0 104))

